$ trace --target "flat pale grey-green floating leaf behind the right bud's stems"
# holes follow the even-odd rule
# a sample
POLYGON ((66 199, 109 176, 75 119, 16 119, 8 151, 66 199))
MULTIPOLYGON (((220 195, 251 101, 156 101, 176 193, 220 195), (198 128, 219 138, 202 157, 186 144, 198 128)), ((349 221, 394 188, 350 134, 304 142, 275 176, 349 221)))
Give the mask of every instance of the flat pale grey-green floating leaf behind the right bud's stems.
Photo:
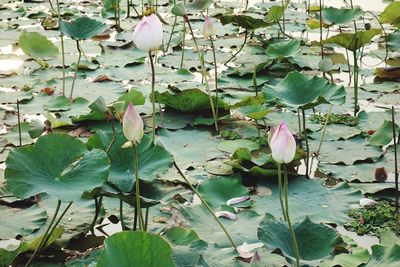
MULTIPOLYGON (((275 175, 276 177, 276 175, 275 175)), ((278 198, 278 184, 265 181, 258 186, 268 188, 267 196, 257 193, 253 195, 253 209, 262 214, 268 207, 268 213, 276 218, 282 216, 278 198)), ((300 221, 308 216, 314 222, 343 224, 348 221, 347 211, 352 204, 359 202, 362 194, 352 189, 347 183, 340 183, 333 188, 323 186, 321 181, 307 180, 297 177, 289 181, 289 204, 292 221, 300 221)))

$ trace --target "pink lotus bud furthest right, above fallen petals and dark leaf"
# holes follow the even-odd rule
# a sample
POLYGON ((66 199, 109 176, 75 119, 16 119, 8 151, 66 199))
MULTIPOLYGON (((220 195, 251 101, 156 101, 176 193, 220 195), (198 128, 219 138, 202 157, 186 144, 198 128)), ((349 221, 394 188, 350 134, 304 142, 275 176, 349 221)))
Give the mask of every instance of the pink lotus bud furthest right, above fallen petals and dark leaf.
POLYGON ((272 157, 277 163, 290 163, 296 154, 296 141, 286 123, 281 122, 271 138, 272 157))

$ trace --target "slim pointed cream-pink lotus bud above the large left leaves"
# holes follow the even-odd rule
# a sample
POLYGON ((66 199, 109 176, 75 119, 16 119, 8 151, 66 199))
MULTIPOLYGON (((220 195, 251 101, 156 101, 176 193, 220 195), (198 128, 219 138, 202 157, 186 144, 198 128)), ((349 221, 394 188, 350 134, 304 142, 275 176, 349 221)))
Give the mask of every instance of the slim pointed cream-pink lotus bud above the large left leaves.
POLYGON ((137 144, 143 137, 143 120, 135 107, 129 103, 122 120, 122 131, 126 139, 137 144))

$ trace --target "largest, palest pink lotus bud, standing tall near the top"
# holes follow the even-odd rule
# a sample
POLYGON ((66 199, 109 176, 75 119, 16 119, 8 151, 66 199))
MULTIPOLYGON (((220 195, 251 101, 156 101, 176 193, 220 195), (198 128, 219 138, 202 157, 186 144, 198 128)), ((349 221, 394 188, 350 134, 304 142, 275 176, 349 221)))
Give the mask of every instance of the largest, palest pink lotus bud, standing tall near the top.
POLYGON ((133 31, 133 42, 142 51, 148 52, 160 47, 163 40, 162 24, 154 13, 143 16, 133 31))

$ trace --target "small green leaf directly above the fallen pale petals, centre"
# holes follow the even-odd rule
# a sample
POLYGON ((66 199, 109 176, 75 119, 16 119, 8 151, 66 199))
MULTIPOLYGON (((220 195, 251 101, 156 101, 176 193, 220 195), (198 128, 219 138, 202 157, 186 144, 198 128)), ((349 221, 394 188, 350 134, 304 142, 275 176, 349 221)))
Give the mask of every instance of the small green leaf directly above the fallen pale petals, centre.
POLYGON ((211 207, 216 209, 235 197, 243 197, 249 194, 238 179, 214 178, 204 181, 199 186, 199 193, 205 198, 211 207))

